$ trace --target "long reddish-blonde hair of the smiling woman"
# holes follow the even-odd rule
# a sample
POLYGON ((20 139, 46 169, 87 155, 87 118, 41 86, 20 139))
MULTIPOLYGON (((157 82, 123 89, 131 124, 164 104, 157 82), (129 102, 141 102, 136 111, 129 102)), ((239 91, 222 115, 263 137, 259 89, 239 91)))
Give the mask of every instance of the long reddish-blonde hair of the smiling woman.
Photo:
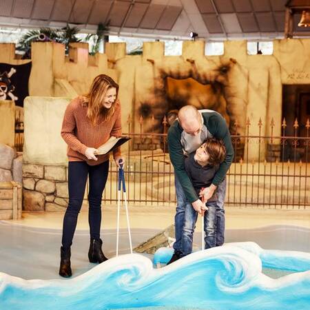
POLYGON ((100 115, 106 119, 114 114, 116 101, 114 101, 110 109, 107 109, 102 105, 105 94, 107 94, 107 90, 111 87, 116 88, 117 99, 118 84, 112 79, 112 77, 105 74, 99 74, 99 76, 96 76, 94 81, 92 81, 90 92, 85 95, 85 101, 88 104, 87 116, 94 124, 98 121, 100 115))

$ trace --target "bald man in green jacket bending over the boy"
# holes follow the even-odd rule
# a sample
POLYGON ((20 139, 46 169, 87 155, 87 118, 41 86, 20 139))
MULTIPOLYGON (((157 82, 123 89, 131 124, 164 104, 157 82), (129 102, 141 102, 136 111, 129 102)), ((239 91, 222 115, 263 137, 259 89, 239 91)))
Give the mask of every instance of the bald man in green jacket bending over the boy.
POLYGON ((178 119, 168 130, 169 156, 174 166, 176 185, 176 216, 174 218, 176 242, 174 242, 174 255, 168 262, 174 262, 183 256, 182 236, 185 221, 185 206, 192 207, 201 214, 205 209, 197 196, 189 176, 185 172, 184 158, 196 151, 207 138, 222 140, 226 148, 225 161, 220 164, 212 183, 203 192, 200 192, 207 201, 214 194, 218 197, 216 203, 216 246, 223 245, 225 234, 224 200, 226 194, 226 173, 234 157, 234 148, 225 119, 218 112, 212 110, 197 110, 192 105, 185 105, 178 112, 178 119))

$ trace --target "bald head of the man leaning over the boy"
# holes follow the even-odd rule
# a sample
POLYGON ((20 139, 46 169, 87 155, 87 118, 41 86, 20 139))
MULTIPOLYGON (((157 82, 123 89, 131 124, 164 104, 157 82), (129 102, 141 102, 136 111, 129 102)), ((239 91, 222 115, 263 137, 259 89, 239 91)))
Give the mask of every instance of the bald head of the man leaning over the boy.
POLYGON ((200 113, 192 105, 185 105, 180 108, 178 111, 178 123, 180 123, 180 126, 187 134, 192 134, 193 136, 199 134, 202 127, 200 113))

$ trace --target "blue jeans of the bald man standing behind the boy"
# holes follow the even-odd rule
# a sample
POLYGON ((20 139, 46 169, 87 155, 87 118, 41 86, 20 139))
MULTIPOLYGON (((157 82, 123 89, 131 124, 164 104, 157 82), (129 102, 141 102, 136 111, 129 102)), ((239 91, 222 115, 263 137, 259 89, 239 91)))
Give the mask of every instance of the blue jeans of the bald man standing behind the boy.
MULTIPOLYGON (((182 252, 182 236, 185 223, 185 206, 188 203, 184 194, 183 187, 180 185, 176 174, 174 174, 174 182, 176 186, 176 215, 174 216, 174 225, 176 233, 176 242, 174 242, 174 250, 182 252)), ((224 244, 225 240, 225 210, 224 201, 226 194, 226 178, 220 183, 216 189, 218 200, 216 202, 216 246, 224 244)))

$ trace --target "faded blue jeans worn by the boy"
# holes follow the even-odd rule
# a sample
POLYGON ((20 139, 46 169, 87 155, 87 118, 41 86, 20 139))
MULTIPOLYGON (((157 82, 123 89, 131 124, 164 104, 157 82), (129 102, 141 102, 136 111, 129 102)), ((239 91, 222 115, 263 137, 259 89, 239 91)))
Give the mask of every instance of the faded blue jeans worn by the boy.
MULTIPOLYGON (((205 249, 216 246, 216 201, 206 204, 209 208, 205 211, 204 231, 205 231, 205 249)), ((192 205, 185 205, 185 223, 182 236, 182 256, 192 253, 193 236, 196 227, 198 212, 192 205)), ((198 216, 201 217, 200 215, 198 216)))

